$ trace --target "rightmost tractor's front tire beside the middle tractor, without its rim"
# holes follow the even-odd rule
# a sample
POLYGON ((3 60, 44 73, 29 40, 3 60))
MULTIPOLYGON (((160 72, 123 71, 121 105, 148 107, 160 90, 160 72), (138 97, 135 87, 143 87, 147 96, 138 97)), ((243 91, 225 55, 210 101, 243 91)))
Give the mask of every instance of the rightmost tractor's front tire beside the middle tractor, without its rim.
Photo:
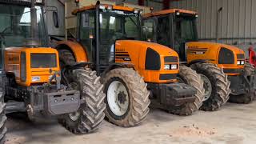
POLYGON ((208 98, 202 102, 200 110, 218 110, 230 98, 230 81, 221 68, 211 63, 195 63, 191 66, 198 74, 210 80, 210 88, 207 88, 204 81, 205 94, 211 90, 208 98))

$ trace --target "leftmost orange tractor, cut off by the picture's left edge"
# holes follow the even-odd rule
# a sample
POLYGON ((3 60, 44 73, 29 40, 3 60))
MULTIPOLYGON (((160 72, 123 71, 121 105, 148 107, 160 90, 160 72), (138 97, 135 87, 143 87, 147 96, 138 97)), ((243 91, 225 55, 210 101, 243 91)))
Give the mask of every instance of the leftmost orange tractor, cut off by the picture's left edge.
POLYGON ((96 130, 106 106, 102 84, 90 63, 60 69, 59 54, 47 42, 43 2, 0 0, 0 143, 6 114, 26 112, 30 120, 58 118, 75 134, 96 130))

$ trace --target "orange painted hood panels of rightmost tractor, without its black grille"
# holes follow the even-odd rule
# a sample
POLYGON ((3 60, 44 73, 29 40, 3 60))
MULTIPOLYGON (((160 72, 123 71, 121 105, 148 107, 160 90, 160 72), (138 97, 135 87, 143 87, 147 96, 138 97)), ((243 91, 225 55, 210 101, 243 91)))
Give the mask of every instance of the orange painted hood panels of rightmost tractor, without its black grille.
MULTIPOLYGON (((186 55, 187 62, 192 62, 194 60, 209 60, 210 63, 217 64, 218 67, 224 69, 243 69, 243 65, 237 65, 238 58, 237 54, 245 54, 243 50, 230 45, 225 45, 221 43, 212 43, 212 42, 187 42, 186 43, 186 55), (233 51, 234 53, 234 64, 218 64, 218 54, 219 50, 225 47, 233 51)), ((239 59, 245 60, 245 59, 239 59)), ((228 75, 238 75, 238 74, 228 74, 228 75)))

